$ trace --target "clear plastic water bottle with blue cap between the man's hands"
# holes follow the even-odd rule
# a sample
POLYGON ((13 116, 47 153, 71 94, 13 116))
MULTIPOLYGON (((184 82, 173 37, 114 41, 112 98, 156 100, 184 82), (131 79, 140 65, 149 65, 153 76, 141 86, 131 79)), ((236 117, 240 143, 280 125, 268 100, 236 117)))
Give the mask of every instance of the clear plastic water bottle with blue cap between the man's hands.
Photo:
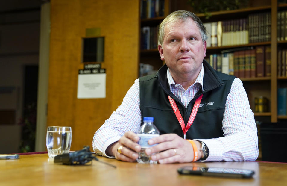
POLYGON ((139 128, 138 136, 139 136, 139 145, 142 147, 141 151, 138 152, 139 157, 137 158, 138 163, 145 163, 145 164, 156 164, 157 161, 153 161, 150 158, 150 155, 146 155, 145 149, 154 145, 149 145, 148 140, 157 137, 160 135, 157 127, 154 126, 154 118, 153 117, 144 117, 143 124, 139 128))

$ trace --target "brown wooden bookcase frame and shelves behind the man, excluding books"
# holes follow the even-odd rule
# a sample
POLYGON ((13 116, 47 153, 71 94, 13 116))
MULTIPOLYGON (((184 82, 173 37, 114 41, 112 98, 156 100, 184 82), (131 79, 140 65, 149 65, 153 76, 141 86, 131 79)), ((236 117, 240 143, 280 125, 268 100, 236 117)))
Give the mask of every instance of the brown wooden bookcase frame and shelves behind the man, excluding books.
MULTIPOLYGON (((169 0, 165 0, 165 16, 170 13, 169 0)), ((271 47, 271 76, 262 78, 242 78, 243 86, 247 92, 247 96, 250 102, 250 107, 254 109, 254 98, 256 96, 265 96, 269 99, 269 112, 254 113, 255 119, 264 122, 277 122, 278 120, 287 119, 287 116, 277 116, 277 87, 287 87, 287 77, 277 77, 277 46, 286 46, 287 41, 277 41, 277 11, 287 10, 287 4, 277 4, 277 0, 271 0, 270 5, 257 6, 244 8, 239 10, 212 12, 209 19, 205 19, 204 14, 197 14, 202 22, 215 22, 228 19, 247 18, 249 14, 270 12, 271 13, 271 40, 268 42, 249 43, 244 45, 233 46, 220 46, 220 47, 208 47, 207 54, 212 54, 233 48, 241 48, 248 46, 270 46, 271 47)), ((164 17, 142 19, 141 27, 147 25, 157 25, 164 17)), ((141 50, 139 63, 152 64, 155 69, 159 69, 163 65, 160 60, 160 55, 157 49, 141 50)))

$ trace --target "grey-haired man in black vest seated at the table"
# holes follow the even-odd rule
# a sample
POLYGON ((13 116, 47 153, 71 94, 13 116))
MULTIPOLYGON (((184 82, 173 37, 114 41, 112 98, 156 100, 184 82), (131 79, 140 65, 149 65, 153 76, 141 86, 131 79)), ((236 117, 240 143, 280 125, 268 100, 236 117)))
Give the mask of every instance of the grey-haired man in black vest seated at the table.
POLYGON ((154 161, 256 160, 257 128, 246 92, 238 78, 216 72, 204 61, 201 20, 189 11, 171 13, 160 25, 158 50, 166 65, 156 75, 136 79, 95 133, 94 151, 135 161, 142 118, 154 117, 161 135, 149 140, 158 144, 145 150, 154 161))

